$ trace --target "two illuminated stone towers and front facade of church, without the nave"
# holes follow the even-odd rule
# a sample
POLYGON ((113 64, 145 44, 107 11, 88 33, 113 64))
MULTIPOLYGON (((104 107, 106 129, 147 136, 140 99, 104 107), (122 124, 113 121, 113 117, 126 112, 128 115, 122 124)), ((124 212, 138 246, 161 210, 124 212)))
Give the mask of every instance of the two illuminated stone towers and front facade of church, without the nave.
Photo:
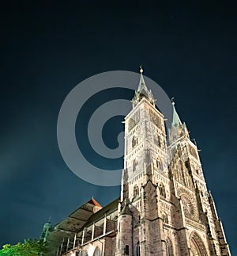
POLYGON ((133 109, 125 118, 115 254, 230 255, 198 148, 174 103, 167 142, 164 116, 140 72, 133 109))

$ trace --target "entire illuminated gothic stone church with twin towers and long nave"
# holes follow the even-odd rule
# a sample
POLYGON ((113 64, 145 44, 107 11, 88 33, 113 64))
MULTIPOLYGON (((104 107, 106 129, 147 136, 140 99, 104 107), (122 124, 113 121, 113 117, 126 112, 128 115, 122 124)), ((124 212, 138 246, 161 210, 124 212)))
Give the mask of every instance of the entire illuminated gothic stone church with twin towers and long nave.
POLYGON ((231 255, 198 148, 173 105, 171 128, 143 70, 125 117, 121 196, 92 198, 65 220, 43 226, 52 256, 231 255))

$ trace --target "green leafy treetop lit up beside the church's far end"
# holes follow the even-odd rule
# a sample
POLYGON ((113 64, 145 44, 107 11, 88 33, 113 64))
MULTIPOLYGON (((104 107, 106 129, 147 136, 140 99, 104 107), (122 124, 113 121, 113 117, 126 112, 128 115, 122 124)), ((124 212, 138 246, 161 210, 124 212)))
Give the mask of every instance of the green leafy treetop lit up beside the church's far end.
POLYGON ((6 244, 0 250, 0 256, 43 256, 47 253, 47 244, 43 240, 24 240, 15 245, 6 244))

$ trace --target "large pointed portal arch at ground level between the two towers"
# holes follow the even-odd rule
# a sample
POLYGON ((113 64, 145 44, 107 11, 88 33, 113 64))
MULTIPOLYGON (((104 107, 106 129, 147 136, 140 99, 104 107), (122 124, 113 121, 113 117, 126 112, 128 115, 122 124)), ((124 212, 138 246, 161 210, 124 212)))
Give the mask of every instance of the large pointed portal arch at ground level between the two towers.
POLYGON ((196 231, 190 235, 190 256, 208 256, 205 245, 196 231))

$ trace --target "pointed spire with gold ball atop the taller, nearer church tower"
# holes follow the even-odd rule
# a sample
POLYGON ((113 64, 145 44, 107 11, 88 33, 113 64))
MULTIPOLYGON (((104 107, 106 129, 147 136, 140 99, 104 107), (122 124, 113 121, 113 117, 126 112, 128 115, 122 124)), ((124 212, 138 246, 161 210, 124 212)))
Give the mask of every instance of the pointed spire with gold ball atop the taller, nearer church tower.
POLYGON ((152 103, 152 105, 155 105, 152 91, 148 90, 145 84, 145 79, 143 77, 143 68, 140 66, 140 81, 138 84, 138 88, 135 91, 134 98, 132 100, 133 105, 137 105, 137 103, 140 102, 143 97, 147 98, 150 101, 150 103, 152 103))

